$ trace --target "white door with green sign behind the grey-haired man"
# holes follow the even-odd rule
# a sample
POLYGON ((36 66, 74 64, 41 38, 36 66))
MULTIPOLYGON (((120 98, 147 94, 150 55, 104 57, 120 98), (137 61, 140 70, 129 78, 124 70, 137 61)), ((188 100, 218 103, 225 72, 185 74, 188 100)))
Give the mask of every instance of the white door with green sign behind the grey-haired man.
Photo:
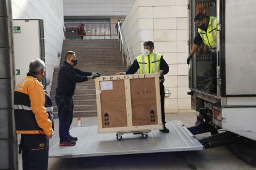
POLYGON ((14 20, 13 27, 15 84, 18 84, 27 75, 31 60, 45 62, 43 20, 14 20))

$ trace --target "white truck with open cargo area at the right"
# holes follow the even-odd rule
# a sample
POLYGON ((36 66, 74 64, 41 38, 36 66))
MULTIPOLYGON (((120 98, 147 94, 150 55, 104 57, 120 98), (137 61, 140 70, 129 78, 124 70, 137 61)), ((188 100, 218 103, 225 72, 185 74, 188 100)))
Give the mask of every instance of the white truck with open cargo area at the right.
POLYGON ((255 7, 254 0, 189 1, 189 51, 198 33, 198 12, 216 17, 217 25, 216 92, 207 90, 213 52, 202 44, 189 64, 188 94, 199 113, 188 129, 194 135, 211 133, 199 140, 205 148, 256 140, 255 7))

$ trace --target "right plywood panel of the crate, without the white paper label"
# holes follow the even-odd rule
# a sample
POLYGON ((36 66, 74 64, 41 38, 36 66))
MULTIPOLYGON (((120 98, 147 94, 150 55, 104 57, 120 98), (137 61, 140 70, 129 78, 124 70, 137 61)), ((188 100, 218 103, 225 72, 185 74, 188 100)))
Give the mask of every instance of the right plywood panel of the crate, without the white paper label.
POLYGON ((155 78, 130 79, 133 126, 158 124, 155 78))

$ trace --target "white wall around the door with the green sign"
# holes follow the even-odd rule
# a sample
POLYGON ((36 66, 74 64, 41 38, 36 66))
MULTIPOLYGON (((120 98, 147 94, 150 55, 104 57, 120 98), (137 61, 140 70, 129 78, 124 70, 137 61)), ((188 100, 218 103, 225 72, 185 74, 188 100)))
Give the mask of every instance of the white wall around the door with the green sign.
MULTIPOLYGON (((13 19, 42 19, 45 34, 46 76, 52 79, 54 67, 59 67, 58 52, 62 51, 63 2, 62 0, 12 0, 13 19)), ((29 65, 29 63, 23 63, 29 65)), ((48 87, 47 91, 50 89, 48 87)))

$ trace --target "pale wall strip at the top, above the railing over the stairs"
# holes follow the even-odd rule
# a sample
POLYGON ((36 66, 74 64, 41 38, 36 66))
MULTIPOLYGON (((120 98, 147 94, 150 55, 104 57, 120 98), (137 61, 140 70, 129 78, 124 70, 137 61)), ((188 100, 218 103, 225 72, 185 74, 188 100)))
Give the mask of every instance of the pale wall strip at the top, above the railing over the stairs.
POLYGON ((126 16, 135 0, 64 0, 64 16, 126 16))

